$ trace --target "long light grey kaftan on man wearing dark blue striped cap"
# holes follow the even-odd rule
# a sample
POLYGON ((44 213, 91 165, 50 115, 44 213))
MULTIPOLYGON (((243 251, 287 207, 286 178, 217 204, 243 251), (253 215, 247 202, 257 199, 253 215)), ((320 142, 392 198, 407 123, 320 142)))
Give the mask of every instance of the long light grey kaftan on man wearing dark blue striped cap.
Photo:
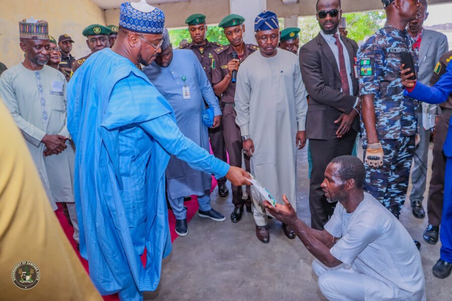
MULTIPOLYGON (((236 123, 241 135, 249 135, 254 143, 251 173, 281 204, 285 193, 294 208, 295 137, 297 131, 305 130, 306 97, 298 58, 293 53, 278 49, 275 56, 264 57, 256 51, 240 64, 235 90, 236 123)), ((262 198, 254 189, 252 198, 254 220, 263 226, 266 218, 262 198)))

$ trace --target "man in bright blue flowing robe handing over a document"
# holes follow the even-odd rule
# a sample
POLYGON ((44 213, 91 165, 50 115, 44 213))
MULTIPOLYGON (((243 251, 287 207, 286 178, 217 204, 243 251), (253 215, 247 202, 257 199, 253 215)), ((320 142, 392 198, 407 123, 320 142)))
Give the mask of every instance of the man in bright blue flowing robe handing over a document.
POLYGON ((155 290, 162 258, 171 251, 165 203, 170 154, 245 183, 244 171, 183 136, 171 106, 137 68, 160 52, 163 24, 160 9, 123 3, 114 47, 93 53, 68 86, 80 252, 99 292, 118 292, 121 300, 142 300, 143 291, 155 290))

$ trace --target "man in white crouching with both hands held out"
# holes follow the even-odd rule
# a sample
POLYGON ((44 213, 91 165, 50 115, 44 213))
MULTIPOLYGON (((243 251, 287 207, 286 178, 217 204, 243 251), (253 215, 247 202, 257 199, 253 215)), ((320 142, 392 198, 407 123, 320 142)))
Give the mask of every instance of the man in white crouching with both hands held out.
POLYGON ((321 187, 329 202, 338 204, 323 231, 298 219, 285 205, 264 206, 292 225, 316 258, 312 268, 329 300, 425 300, 425 280, 419 252, 399 220, 363 191, 363 163, 356 157, 333 159, 321 187))

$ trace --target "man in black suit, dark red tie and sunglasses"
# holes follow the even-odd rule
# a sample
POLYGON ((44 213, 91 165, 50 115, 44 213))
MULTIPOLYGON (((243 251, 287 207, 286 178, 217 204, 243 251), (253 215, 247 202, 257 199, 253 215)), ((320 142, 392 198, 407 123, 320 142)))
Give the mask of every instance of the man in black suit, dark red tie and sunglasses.
POLYGON ((320 33, 303 45, 300 67, 309 105, 306 138, 312 158, 309 186, 311 227, 323 230, 336 203, 329 203, 320 184, 328 163, 351 155, 359 132, 358 78, 355 41, 340 35, 340 0, 318 0, 316 17, 320 33))

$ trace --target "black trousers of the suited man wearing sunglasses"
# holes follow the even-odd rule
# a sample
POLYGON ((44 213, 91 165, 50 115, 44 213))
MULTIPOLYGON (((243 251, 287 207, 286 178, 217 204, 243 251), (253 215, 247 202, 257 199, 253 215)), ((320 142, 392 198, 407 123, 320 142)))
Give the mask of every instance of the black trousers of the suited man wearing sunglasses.
POLYGON ((309 139, 312 172, 309 181, 309 209, 311 228, 324 230, 324 225, 333 215, 336 203, 329 203, 320 185, 325 179, 328 164, 336 157, 351 155, 357 132, 350 129, 342 138, 336 135, 328 140, 309 139))

